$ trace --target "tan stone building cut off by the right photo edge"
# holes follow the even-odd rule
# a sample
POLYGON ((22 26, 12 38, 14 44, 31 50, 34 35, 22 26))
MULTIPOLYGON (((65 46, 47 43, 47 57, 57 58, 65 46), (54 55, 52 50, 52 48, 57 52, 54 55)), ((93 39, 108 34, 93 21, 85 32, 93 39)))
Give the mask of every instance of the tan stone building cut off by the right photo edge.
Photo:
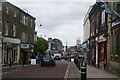
MULTIPOLYGON (((120 15, 120 2, 109 2, 109 7, 120 15)), ((108 15, 108 71, 120 76, 120 17, 108 15)))

